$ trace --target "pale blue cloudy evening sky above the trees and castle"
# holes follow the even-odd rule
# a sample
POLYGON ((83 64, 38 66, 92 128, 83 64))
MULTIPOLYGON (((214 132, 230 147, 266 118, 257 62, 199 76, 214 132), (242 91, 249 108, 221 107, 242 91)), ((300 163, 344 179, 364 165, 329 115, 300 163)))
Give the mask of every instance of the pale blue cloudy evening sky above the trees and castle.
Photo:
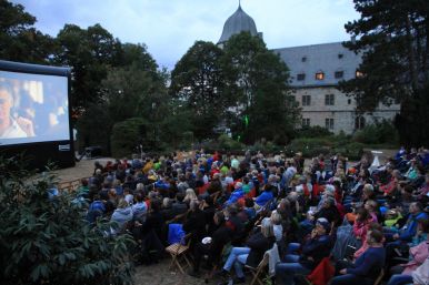
MULTIPOLYGON (((100 23, 122 42, 144 43, 159 65, 173 68, 197 40, 217 42, 238 1, 231 0, 13 0, 57 35, 66 23, 100 23)), ((343 24, 358 18, 350 0, 243 0, 268 48, 348 39, 343 24)))

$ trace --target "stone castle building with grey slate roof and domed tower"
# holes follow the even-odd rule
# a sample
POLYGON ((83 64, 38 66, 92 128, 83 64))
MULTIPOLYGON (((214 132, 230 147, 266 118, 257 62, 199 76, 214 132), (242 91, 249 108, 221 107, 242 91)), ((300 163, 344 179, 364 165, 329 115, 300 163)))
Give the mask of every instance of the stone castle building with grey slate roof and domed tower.
MULTIPOLYGON (((253 19, 239 4, 228 18, 219 47, 242 31, 262 38, 253 19)), ((310 44, 302 47, 273 49, 290 70, 290 85, 301 106, 302 126, 323 126, 331 132, 347 134, 383 119, 392 120, 400 111, 399 104, 379 104, 373 112, 358 113, 355 98, 338 90, 338 83, 361 77, 359 64, 361 55, 342 47, 341 42, 310 44)))

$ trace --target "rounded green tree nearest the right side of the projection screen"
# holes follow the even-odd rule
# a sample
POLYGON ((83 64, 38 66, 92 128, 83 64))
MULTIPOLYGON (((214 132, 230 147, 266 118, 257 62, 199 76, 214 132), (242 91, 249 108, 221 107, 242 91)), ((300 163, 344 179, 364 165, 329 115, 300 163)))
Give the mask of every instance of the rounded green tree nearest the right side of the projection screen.
MULTIPOLYGON (((150 124, 159 124, 164 105, 168 104, 166 75, 157 71, 157 64, 144 45, 127 43, 121 50, 123 62, 120 67, 108 68, 107 78, 99 86, 99 102, 89 104, 78 122, 83 145, 99 144, 108 153, 114 124, 131 118, 144 118, 150 124)), ((118 133, 119 129, 116 131, 118 133)), ((136 146, 141 140, 147 141, 144 136, 152 134, 141 133, 138 141, 130 143, 136 146)), ((118 145, 116 143, 114 153, 119 153, 118 145)), ((154 146, 154 143, 150 145, 154 146)))

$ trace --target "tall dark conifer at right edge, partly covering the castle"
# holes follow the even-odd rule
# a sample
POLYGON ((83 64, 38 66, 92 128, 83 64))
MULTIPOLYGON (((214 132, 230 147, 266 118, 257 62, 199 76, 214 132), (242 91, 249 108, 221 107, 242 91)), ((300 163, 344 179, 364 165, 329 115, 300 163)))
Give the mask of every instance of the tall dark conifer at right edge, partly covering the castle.
POLYGON ((345 45, 362 54, 362 75, 341 83, 340 89, 357 98, 359 111, 372 111, 380 102, 401 103, 396 120, 401 141, 421 144, 429 139, 420 131, 425 125, 418 120, 429 112, 425 98, 429 82, 429 2, 353 2, 361 17, 348 22, 346 30, 358 40, 345 45))

